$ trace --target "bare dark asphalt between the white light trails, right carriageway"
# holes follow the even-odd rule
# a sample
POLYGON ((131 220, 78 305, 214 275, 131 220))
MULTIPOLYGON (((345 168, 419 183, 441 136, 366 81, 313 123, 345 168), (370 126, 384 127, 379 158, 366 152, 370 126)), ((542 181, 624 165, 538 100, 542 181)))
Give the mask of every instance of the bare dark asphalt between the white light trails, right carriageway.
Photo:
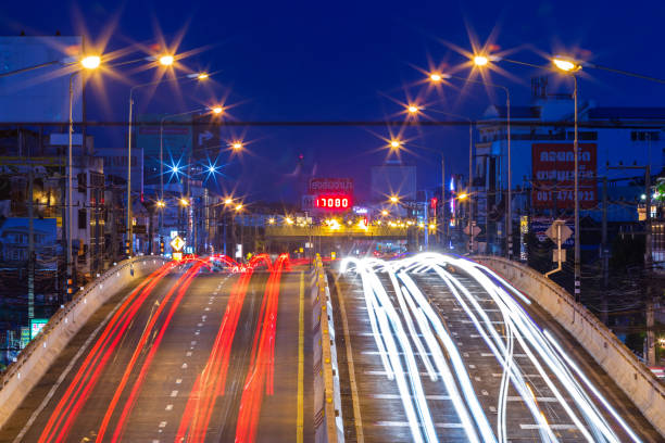
MULTIPOLYGON (((397 312, 403 315, 403 311, 399 308, 396 291, 389 276, 381 271, 377 271, 376 276, 382 288, 385 288, 390 301, 398 306, 397 312)), ((486 289, 460 269, 456 269, 454 276, 468 290, 473 299, 478 302, 478 306, 488 315, 489 321, 498 333, 501 334, 500 337, 505 339, 506 326, 500 315, 499 307, 491 300, 486 289)), ((486 341, 479 334, 476 326, 469 319, 468 314, 460 303, 460 299, 453 295, 441 278, 431 271, 412 274, 411 277, 434 308, 436 315, 441 319, 443 327, 452 338, 452 345, 459 350, 462 357, 464 371, 468 374, 473 392, 478 398, 481 408, 481 413, 474 414, 472 419, 475 419, 480 414, 485 414, 493 433, 498 435, 498 408, 503 374, 502 365, 500 365, 486 341)), ((396 380, 388 378, 386 365, 381 360, 377 342, 372 332, 361 276, 353 271, 343 275, 332 271, 329 280, 332 287, 332 300, 337 316, 336 325, 343 326, 344 322, 348 325, 348 330, 343 331, 343 334, 342 331, 338 331, 338 363, 342 379, 342 414, 347 441, 416 441, 405 412, 405 403, 411 402, 411 400, 404 401, 404 391, 400 392, 396 380), (334 284, 336 279, 337 284, 334 284), (344 314, 346 318, 343 318, 344 314), (350 354, 349 351, 351 351, 350 354), (351 371, 353 372, 354 387, 349 382, 351 371)), ((592 357, 577 345, 575 340, 552 317, 537 305, 527 305, 523 302, 519 302, 519 305, 540 328, 547 329, 563 345, 564 351, 581 368, 591 383, 598 388, 600 393, 613 405, 618 415, 623 417, 630 429, 642 441, 663 441, 662 436, 657 434, 618 387, 593 363, 592 357)), ((480 309, 474 308, 472 311, 477 314, 480 309)), ((392 326, 392 328, 393 337, 397 341, 394 327, 392 326)), ((419 334, 418 337, 423 336, 419 334)), ((427 368, 421 359, 421 353, 415 352, 414 355, 426 403, 431 414, 436 438, 441 442, 468 441, 460 415, 453 406, 450 391, 441 381, 442 378, 439 377, 437 381, 432 381, 428 377, 427 368)), ((431 353, 427 352, 427 355, 431 356, 431 353)), ((449 353, 444 353, 444 356, 447 359, 451 359, 449 353)), ((404 352, 399 353, 399 358, 404 367, 406 367, 404 352)), ((562 403, 555 398, 552 387, 545 383, 544 378, 539 374, 538 368, 528 358, 525 350, 518 342, 515 343, 513 350, 513 359, 518 371, 524 375, 526 384, 535 397, 535 404, 544 416, 547 423, 549 423, 553 436, 559 441, 565 442, 588 441, 580 432, 580 428, 572 421, 562 403)), ((536 358, 536 360, 542 363, 539 358, 536 358)), ((551 368, 544 364, 542 366, 547 376, 553 380, 555 389, 563 392, 564 403, 570 405, 573 410, 579 416, 581 413, 576 409, 574 401, 569 393, 566 392, 565 387, 560 384, 560 380, 552 372, 551 368)), ((438 375, 440 376, 440 372, 438 375)), ((456 388, 462 391, 460 382, 456 384, 456 388)), ((415 397, 413 384, 409 389, 411 389, 409 391, 411 395, 407 396, 415 397)), ((463 398, 466 401, 466 397, 463 398)), ((611 429, 618 435, 618 441, 631 441, 624 429, 601 406, 597 397, 591 395, 591 402, 611 423, 611 429)), ((469 407, 469 410, 473 409, 469 407)), ((543 427, 535 421, 532 414, 514 385, 511 385, 507 390, 506 408, 504 410, 509 441, 536 442, 545 440, 541 433, 543 427)), ((423 421, 421 421, 421 430, 423 427, 423 421)), ((590 432, 592 433, 592 431, 590 432)), ((601 441, 595 440, 595 438, 598 435, 593 436, 592 441, 601 441)), ((481 438, 481 441, 487 440, 481 438)))

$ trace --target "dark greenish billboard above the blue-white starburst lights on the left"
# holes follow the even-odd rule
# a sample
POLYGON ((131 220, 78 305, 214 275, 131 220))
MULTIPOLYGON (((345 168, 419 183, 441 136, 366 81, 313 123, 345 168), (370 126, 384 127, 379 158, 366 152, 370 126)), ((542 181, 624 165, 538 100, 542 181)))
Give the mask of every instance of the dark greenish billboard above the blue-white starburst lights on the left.
MULTIPOLYGON (((146 185, 158 185, 160 182, 160 143, 162 148, 162 160, 164 165, 162 170, 164 183, 170 180, 177 180, 178 177, 170 174, 172 166, 186 165, 191 153, 191 115, 164 116, 160 114, 141 115, 142 122, 183 122, 183 125, 165 124, 162 128, 159 125, 141 126, 137 123, 136 145, 143 150, 143 178, 146 185), (161 137, 160 137, 161 129, 161 137)), ((134 177, 134 176, 133 176, 134 177)))

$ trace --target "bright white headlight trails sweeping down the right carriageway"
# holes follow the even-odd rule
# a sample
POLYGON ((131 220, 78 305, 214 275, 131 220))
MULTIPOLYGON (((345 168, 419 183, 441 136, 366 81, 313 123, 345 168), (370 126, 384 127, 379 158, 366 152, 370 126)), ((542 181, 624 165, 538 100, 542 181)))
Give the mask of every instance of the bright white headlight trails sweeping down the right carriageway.
POLYGON ((470 442, 505 443, 515 438, 507 426, 515 408, 509 408, 511 389, 534 420, 529 426, 538 430, 540 441, 560 441, 556 430, 562 426, 575 429, 587 442, 640 441, 552 334, 532 320, 523 307, 530 304, 528 298, 491 269, 465 258, 427 253, 393 262, 346 258, 340 270, 361 277, 372 334, 387 378, 397 383, 413 441, 438 441, 425 378, 444 388, 470 442), (492 406, 495 417, 488 415, 478 397, 465 353, 438 312, 437 294, 428 294, 428 288, 418 284, 424 276, 444 284, 489 350, 487 355, 501 368, 492 406), (485 300, 472 293, 468 278, 482 288, 485 300), (485 302, 491 302, 492 308, 485 302), (535 387, 534 375, 523 369, 527 362, 544 385, 535 387), (552 398, 545 405, 538 400, 543 390, 552 398), (552 404, 561 413, 553 413, 552 404))

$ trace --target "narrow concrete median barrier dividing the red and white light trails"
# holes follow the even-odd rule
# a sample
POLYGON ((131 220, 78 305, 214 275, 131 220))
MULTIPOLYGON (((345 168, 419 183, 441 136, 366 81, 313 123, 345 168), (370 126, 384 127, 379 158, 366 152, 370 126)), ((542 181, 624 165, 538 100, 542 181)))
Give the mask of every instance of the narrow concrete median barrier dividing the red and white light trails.
POLYGON ((339 367, 328 278, 316 254, 312 281, 314 340, 314 435, 317 443, 343 443, 339 367))

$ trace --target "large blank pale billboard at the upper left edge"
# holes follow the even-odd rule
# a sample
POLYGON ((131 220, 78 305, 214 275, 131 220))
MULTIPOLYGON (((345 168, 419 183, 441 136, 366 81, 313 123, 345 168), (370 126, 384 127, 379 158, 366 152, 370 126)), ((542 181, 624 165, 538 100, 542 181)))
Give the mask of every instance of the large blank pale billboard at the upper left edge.
MULTIPOLYGON (((0 74, 54 62, 0 77, 0 122, 67 122, 70 75, 66 63, 80 59, 81 37, 0 37, 0 74)), ((73 78, 73 117, 83 116, 81 78, 73 78)))

